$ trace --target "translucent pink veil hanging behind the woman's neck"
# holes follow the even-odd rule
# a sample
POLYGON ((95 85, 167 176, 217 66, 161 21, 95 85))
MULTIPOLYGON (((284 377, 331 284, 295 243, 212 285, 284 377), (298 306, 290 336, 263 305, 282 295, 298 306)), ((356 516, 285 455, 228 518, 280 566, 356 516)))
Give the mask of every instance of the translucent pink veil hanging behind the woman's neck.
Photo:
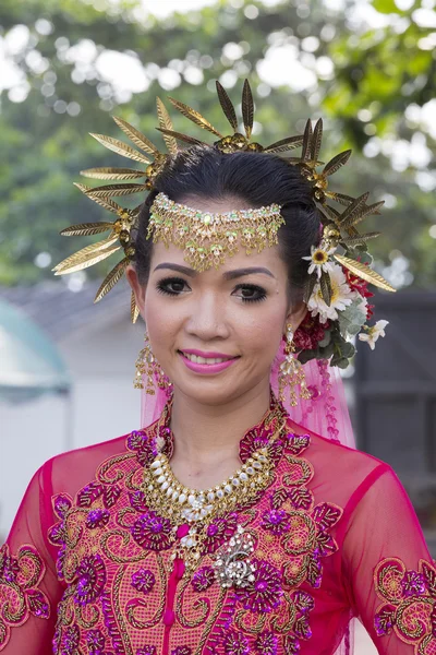
MULTIPOLYGON (((270 386, 278 397, 278 371, 284 359, 283 343, 276 355, 269 377, 270 386)), ((290 418, 311 432, 332 441, 355 448, 350 413, 347 405, 343 381, 337 367, 330 367, 326 359, 312 359, 304 365, 306 384, 312 398, 301 400, 296 407, 289 402, 283 406, 290 418)), ((145 428, 157 420, 169 394, 155 383, 155 395, 145 392, 146 379, 141 398, 141 427, 145 428)), ((352 619, 335 655, 354 653, 355 619, 352 619)))

